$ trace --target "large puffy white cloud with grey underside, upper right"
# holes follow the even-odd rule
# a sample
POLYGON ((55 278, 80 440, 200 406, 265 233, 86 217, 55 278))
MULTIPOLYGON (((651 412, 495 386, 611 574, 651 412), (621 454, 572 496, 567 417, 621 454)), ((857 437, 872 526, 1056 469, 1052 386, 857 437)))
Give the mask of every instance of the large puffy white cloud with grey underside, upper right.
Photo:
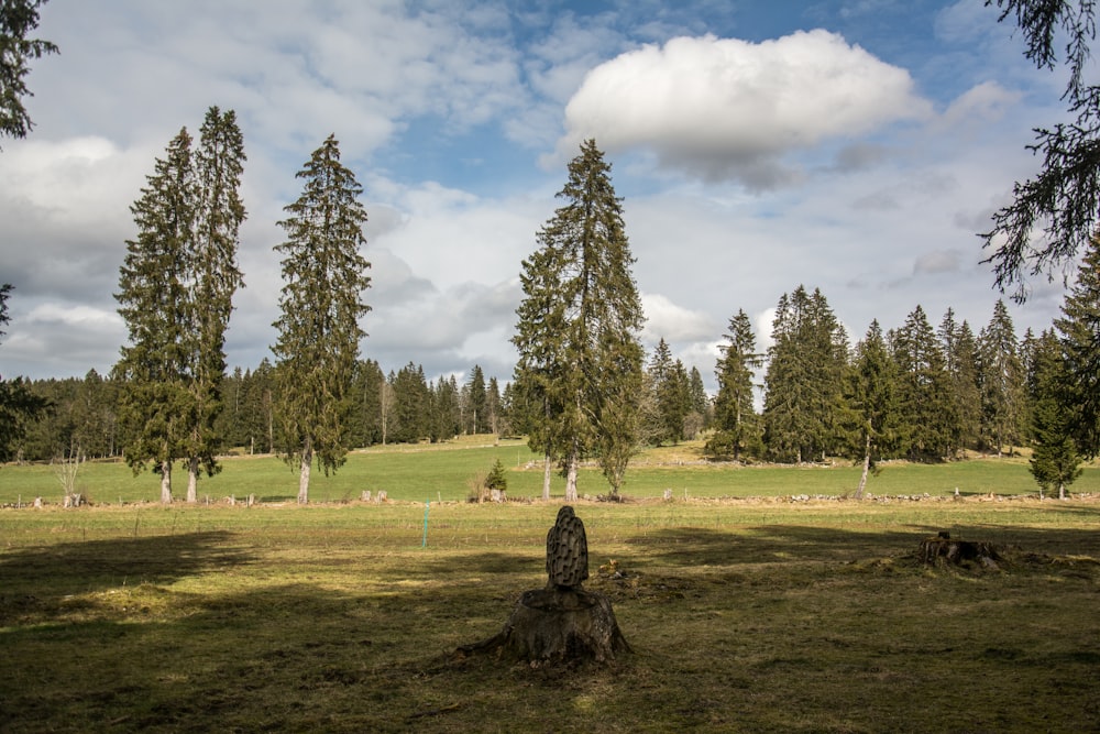
POLYGON ((769 189, 799 177, 791 153, 930 114, 906 70, 834 33, 678 37, 593 69, 565 108, 559 150, 595 138, 704 180, 769 189))

